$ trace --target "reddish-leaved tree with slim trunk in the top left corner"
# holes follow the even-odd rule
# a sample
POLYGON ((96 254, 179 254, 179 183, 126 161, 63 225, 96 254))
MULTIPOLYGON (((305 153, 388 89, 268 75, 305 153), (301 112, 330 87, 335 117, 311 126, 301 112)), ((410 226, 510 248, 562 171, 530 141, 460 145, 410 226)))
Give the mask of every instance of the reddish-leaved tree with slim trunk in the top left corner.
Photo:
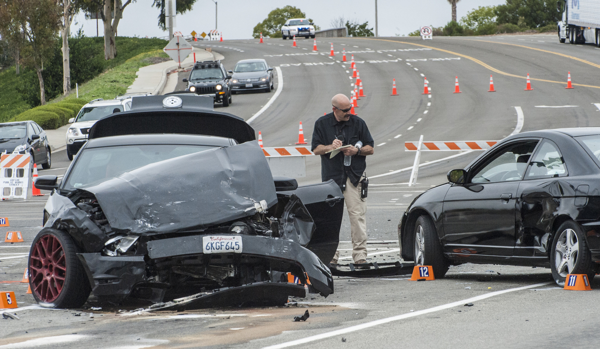
POLYGON ((60 22, 55 0, 2 0, 0 23, 2 32, 9 31, 22 46, 22 61, 35 70, 40 82, 40 102, 46 104, 44 60, 52 56, 60 22))

